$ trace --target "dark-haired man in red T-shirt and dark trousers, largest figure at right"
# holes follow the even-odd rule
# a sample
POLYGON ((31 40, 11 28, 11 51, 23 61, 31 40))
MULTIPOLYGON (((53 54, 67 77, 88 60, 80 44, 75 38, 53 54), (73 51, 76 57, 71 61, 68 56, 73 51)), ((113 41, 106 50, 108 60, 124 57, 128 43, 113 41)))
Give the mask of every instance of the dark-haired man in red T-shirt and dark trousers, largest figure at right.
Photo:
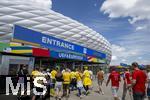
POLYGON ((146 90, 146 79, 147 76, 144 71, 138 68, 138 63, 132 63, 132 67, 134 68, 132 74, 132 90, 133 90, 133 98, 134 100, 144 100, 145 90, 146 90))

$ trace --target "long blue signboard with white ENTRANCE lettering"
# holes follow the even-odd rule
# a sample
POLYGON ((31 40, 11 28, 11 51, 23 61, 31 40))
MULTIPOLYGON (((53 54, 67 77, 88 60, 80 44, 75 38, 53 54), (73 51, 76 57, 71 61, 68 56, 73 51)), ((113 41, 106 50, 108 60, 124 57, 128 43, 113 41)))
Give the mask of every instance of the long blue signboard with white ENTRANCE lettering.
POLYGON ((64 52, 75 52, 105 59, 106 54, 77 44, 73 44, 49 35, 42 34, 18 25, 14 26, 13 39, 27 43, 38 44, 41 47, 64 52))

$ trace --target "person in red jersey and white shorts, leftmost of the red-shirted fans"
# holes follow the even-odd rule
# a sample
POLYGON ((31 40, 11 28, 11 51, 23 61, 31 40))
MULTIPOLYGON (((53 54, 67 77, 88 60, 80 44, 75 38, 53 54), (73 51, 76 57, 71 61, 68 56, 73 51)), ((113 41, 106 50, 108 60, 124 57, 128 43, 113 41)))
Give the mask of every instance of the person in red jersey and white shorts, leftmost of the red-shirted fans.
POLYGON ((119 89, 119 82, 121 81, 121 79, 120 79, 120 74, 117 71, 115 71, 114 68, 112 68, 112 72, 108 77, 106 86, 108 86, 110 80, 111 80, 111 89, 112 89, 112 95, 114 97, 114 100, 119 100, 118 89, 119 89))

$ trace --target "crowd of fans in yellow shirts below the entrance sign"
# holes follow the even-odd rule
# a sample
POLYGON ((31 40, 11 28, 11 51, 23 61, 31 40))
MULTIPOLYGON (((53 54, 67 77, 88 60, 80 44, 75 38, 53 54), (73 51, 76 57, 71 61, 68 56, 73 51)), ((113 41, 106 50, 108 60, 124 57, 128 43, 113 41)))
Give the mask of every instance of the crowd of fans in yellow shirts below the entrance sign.
MULTIPOLYGON (((32 71, 32 78, 37 76, 44 76, 47 79, 47 92, 42 99, 45 99, 49 94, 51 97, 55 97, 61 100, 62 97, 69 98, 71 91, 77 90, 77 96, 80 98, 83 95, 88 95, 90 93, 90 88, 92 87, 92 71, 88 70, 88 67, 84 67, 84 71, 80 68, 70 70, 69 68, 64 68, 60 70, 59 67, 50 69, 36 68, 32 71)), ((42 83, 41 83, 42 84, 42 83)), ((37 88, 37 91, 41 91, 37 88)), ((32 100, 36 100, 40 96, 34 95, 32 100)))

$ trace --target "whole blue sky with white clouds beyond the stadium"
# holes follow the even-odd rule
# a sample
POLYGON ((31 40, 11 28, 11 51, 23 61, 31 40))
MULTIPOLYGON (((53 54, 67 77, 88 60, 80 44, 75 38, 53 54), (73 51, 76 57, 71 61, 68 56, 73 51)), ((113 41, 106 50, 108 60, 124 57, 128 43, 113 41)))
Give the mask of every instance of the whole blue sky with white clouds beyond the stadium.
POLYGON ((102 34, 112 65, 150 64, 150 0, 52 0, 51 9, 102 34))

